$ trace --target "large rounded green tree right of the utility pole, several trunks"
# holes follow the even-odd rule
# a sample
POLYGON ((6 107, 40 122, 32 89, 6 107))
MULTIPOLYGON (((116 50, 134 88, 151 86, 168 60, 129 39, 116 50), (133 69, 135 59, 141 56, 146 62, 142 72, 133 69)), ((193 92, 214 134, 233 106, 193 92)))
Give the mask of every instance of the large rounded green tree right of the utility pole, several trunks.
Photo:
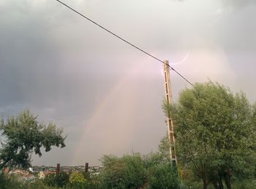
POLYGON ((171 116, 178 162, 194 170, 203 188, 231 188, 231 177, 248 177, 255 164, 253 109, 244 93, 214 82, 181 91, 178 102, 163 104, 171 116))

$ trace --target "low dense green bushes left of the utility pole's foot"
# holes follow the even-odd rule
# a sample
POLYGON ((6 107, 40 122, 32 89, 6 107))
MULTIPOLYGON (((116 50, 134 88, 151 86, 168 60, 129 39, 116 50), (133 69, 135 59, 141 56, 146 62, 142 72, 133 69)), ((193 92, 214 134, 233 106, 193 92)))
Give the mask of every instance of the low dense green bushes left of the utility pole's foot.
POLYGON ((178 188, 176 167, 161 153, 105 155, 102 158, 102 188, 178 188))

